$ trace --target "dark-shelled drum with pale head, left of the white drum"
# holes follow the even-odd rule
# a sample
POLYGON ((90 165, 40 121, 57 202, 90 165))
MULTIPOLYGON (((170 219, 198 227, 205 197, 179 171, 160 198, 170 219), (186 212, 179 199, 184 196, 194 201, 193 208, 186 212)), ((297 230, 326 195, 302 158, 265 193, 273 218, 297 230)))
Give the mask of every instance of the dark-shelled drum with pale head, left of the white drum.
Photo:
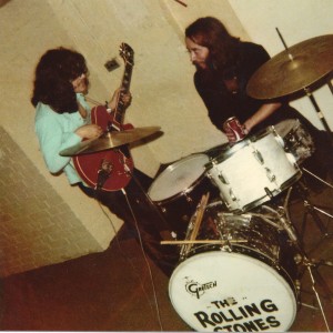
POLYGON ((186 231, 191 215, 208 191, 215 191, 205 176, 205 154, 192 154, 170 164, 148 190, 171 229, 178 234, 186 231))

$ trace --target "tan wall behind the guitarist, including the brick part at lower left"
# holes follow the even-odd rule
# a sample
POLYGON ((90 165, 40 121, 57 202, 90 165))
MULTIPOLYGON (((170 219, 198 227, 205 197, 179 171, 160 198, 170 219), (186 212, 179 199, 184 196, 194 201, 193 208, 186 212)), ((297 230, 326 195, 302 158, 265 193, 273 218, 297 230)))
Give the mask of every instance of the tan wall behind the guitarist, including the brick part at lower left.
MULTIPOLYGON (((167 163, 209 149, 225 141, 212 128, 193 84, 190 64, 178 18, 190 21, 203 13, 230 11, 228 1, 205 1, 183 8, 172 0, 11 0, 0 4, 0 101, 3 128, 1 150, 1 271, 3 275, 68 260, 107 249, 122 221, 102 210, 99 204, 71 188, 63 174, 52 175, 46 169, 33 130, 34 110, 30 104, 34 67, 42 53, 59 46, 82 52, 90 68, 92 88, 89 97, 103 103, 119 87, 123 63, 118 54, 121 42, 134 49, 131 91, 133 103, 127 122, 135 127, 161 125, 163 135, 150 143, 133 148, 135 164, 153 176, 160 163, 167 163), (196 8, 198 6, 198 8, 196 8), (195 10, 196 8, 196 10, 195 10), (190 11, 188 10, 190 9, 190 11), (120 68, 108 72, 104 63, 115 58, 120 68), (24 155, 23 167, 34 170, 34 188, 46 189, 41 196, 29 193, 29 181, 21 164, 14 163, 13 151, 24 155), (9 159, 10 158, 10 159, 9 159), (16 176, 19 175, 19 176, 16 176), (24 182, 26 180, 26 182, 24 182), (24 195, 19 195, 22 183, 24 195), (53 195, 52 195, 53 193, 53 195), (59 201, 56 210, 54 198, 59 201), (39 202, 33 205, 33 202, 39 202), (21 214, 17 214, 17 211, 21 214), (58 211, 58 212, 56 212, 58 211), (56 213, 54 213, 56 212, 56 213), (67 213, 64 213, 67 212, 67 213), (57 215, 50 220, 50 215, 57 215), (38 215, 38 228, 33 222, 38 215), (111 219, 111 221, 110 221, 111 219), (57 221, 61 224, 56 225, 57 221), (31 222, 31 223, 30 223, 31 222), (112 222, 112 223, 110 223, 112 222), (80 234, 84 241, 78 246, 69 241, 80 234), (114 229, 113 229, 114 228, 114 229), (26 235, 27 229, 29 236, 26 235), (57 231, 57 232, 56 232, 57 231), (48 243, 57 239, 57 251, 48 243), (24 236, 26 235, 26 236, 24 236), (6 246, 3 244, 6 243, 6 246), (29 255, 24 253, 29 250, 29 255), (47 253, 41 258, 41 252, 47 253), (39 259, 38 259, 39 258, 39 259)), ((183 20, 183 22, 186 22, 183 20)), ((239 26, 239 21, 234 18, 239 26)), ((32 191, 32 190, 31 190, 32 191)))

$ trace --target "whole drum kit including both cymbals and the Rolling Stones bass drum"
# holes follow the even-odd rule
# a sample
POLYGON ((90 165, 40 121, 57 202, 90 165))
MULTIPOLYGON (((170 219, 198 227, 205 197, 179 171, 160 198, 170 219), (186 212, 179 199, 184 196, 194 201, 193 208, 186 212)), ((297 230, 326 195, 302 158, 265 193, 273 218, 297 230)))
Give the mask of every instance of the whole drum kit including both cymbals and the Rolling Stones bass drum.
MULTIPOLYGON (((304 91, 332 139, 310 87, 332 72, 333 34, 285 49, 254 73, 248 93, 269 100, 304 91)), ((112 149, 159 129, 111 133, 65 153, 112 149)), ((287 209, 293 186, 302 191, 301 165, 313 152, 313 140, 302 124, 286 120, 219 147, 214 157, 203 152, 183 158, 154 179, 147 196, 174 232, 161 244, 179 246, 170 300, 193 330, 287 331, 300 304, 302 268, 330 332, 316 282, 331 299, 330 289, 305 253, 287 209)))

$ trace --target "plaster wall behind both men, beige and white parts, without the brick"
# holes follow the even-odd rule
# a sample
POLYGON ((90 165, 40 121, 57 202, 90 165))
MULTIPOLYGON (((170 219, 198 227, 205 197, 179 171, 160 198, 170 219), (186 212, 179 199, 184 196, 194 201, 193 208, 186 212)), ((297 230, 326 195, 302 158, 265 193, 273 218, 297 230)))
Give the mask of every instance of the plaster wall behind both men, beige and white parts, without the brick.
MULTIPOLYGON (((82 52, 90 69, 92 83, 89 97, 103 103, 122 79, 123 62, 118 54, 119 44, 127 42, 133 48, 133 102, 127 111, 125 122, 134 127, 162 128, 163 135, 143 144, 135 144, 132 149, 137 168, 154 176, 161 163, 172 162, 225 142, 225 137, 208 120, 206 110, 193 87, 194 68, 190 63, 183 42, 183 31, 190 22, 199 17, 215 16, 234 36, 264 44, 271 56, 281 50, 280 41, 274 34, 275 26, 281 28, 283 33, 287 33, 285 37, 290 44, 330 33, 329 30, 332 30, 327 16, 332 9, 330 0, 183 2, 188 6, 181 6, 174 0, 0 2, 1 125, 6 135, 8 134, 26 155, 27 163, 31 163, 40 173, 40 186, 46 181, 50 191, 54 191, 54 194, 61 198, 77 219, 78 232, 85 234, 88 243, 91 238, 85 249, 67 253, 67 259, 70 255, 74 258, 80 253, 82 255, 89 251, 105 249, 114 235, 113 226, 118 230, 122 221, 101 210, 97 202, 84 196, 77 188, 69 186, 64 175, 51 175, 46 169, 33 132, 34 110, 29 102, 34 67, 46 50, 63 46, 82 52), (117 59, 120 67, 109 72, 104 63, 112 58, 117 59), (112 219, 113 226, 109 219, 112 219)), ((326 92, 323 94, 323 98, 319 95, 321 105, 332 100, 326 92)), ((301 105, 303 107, 303 102, 301 105)), ((330 105, 327 108, 331 108, 330 105)), ((310 118, 317 123, 311 105, 303 109, 306 109, 310 118)), ((332 123, 332 117, 330 122, 332 123)), ((48 202, 46 206, 51 208, 52 202, 48 202)), ((48 215, 48 209, 44 214, 48 215)), ((38 235, 42 231, 36 232, 38 235)), ((50 230, 44 229, 43 232, 50 230)), ((10 240, 11 234, 7 235, 10 240)), ((59 240, 63 240, 64 236, 65 229, 63 234, 59 234, 59 240)), ((70 246, 68 242, 65 244, 70 246)), ((20 255, 20 246, 17 246, 12 255, 20 255)), ((64 260, 61 253, 57 255, 50 258, 49 262, 43 261, 39 264, 64 260)), ((7 265, 10 265, 10 260, 7 261, 7 265)), ((24 270, 27 269, 24 265, 24 270)), ((8 272, 20 270, 22 268, 16 266, 8 272)))

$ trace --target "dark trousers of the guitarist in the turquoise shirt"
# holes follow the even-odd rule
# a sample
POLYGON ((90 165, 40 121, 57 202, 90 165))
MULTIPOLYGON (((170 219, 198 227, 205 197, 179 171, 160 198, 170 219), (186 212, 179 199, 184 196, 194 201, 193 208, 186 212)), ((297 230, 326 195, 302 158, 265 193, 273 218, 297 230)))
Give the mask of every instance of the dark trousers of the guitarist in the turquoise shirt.
MULTIPOLYGON (((89 196, 97 199, 113 214, 123 220, 125 226, 137 233, 139 229, 142 245, 149 258, 170 276, 178 263, 176 246, 161 245, 168 239, 170 228, 160 215, 157 208, 147 196, 152 179, 140 170, 134 169, 130 183, 120 191, 95 191, 79 184, 80 189, 89 196), (133 216, 134 214, 134 216, 133 216)), ((139 241, 139 236, 137 238, 139 241)))

